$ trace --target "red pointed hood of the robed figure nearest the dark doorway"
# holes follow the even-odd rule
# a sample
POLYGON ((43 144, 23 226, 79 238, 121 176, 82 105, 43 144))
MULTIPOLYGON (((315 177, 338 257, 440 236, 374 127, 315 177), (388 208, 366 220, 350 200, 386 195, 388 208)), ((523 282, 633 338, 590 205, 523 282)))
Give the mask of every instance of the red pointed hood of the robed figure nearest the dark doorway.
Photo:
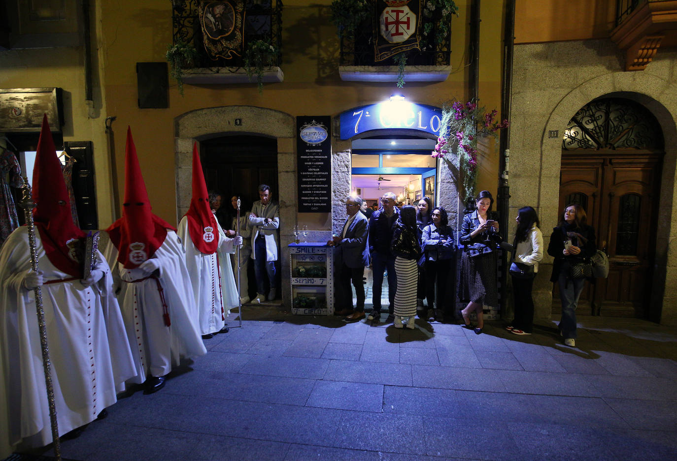
POLYGON ((185 214, 188 218, 188 233, 200 253, 212 254, 219 247, 219 228, 209 206, 209 194, 202 174, 202 162, 198 144, 193 144, 193 198, 185 214))

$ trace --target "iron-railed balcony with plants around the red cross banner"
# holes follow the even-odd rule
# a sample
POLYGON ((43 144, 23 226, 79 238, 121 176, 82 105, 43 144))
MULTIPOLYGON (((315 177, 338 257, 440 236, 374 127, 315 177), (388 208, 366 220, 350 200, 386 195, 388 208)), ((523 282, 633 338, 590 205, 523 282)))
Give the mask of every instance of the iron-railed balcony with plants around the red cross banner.
MULTIPOLYGON (((339 74, 347 81, 395 82, 399 75, 397 55, 376 60, 375 42, 379 33, 379 15, 376 7, 370 17, 355 28, 353 34, 340 37, 339 74)), ((420 30, 416 31, 418 47, 402 51, 407 82, 435 82, 446 80, 452 67, 451 28, 441 27, 439 15, 422 16, 420 30), (426 26, 426 24, 428 24, 426 26), (427 30, 427 33, 422 32, 427 30)))

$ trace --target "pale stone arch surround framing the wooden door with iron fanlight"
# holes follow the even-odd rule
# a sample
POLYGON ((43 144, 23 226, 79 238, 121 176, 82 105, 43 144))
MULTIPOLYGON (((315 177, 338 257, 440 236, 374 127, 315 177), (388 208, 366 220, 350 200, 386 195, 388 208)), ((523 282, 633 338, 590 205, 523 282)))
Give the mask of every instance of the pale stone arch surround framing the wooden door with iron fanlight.
MULTIPOLYGON (((621 72, 611 75, 592 78, 581 84, 575 90, 554 103, 550 110, 542 135, 540 149, 536 156, 531 158, 515 155, 516 162, 525 161, 538 168, 538 203, 544 237, 549 237, 550 230, 556 225, 559 216, 559 172, 561 166, 561 137, 550 139, 553 129, 564 132, 571 114, 598 97, 624 97, 640 103, 655 116, 665 141, 665 156, 663 157, 663 171, 661 173, 661 189, 659 200, 661 204, 657 212, 657 228, 655 233, 655 268, 653 272, 653 287, 651 289, 651 320, 673 324, 677 322, 676 297, 666 286, 677 280, 677 254, 671 249, 671 230, 677 222, 677 204, 674 202, 677 158, 677 126, 673 114, 677 114, 677 100, 671 95, 677 91, 675 85, 661 80, 651 74, 637 74, 636 72, 621 72), (640 90, 641 89, 641 90, 640 90), (639 91, 643 91, 640 93, 639 91), (556 142, 554 142, 556 141, 556 142)), ((528 155, 527 155, 528 157, 528 155)), ((522 193, 511 195, 522 195, 522 193)), ((533 193, 533 189, 531 189, 533 193)), ((513 197, 514 198, 514 197, 513 197)), ((511 199, 512 203, 515 203, 511 199)), ((548 239, 546 238, 546 243, 548 239)), ((673 243, 674 245, 674 243, 673 243)), ((551 262, 545 260, 546 264, 551 262)), ((544 264, 544 267, 546 265, 544 264)), ((550 268, 546 269, 549 273, 550 268)), ((543 277, 538 281, 538 293, 534 299, 538 316, 547 317, 550 312, 552 284, 543 277), (545 310, 545 311, 544 311, 545 310)))

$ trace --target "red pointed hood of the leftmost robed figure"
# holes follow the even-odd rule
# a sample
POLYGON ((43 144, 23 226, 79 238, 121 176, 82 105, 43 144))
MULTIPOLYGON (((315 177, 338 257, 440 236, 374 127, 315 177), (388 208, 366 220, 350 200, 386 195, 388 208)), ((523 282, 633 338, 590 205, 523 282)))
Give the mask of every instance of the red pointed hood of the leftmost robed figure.
POLYGON ((47 114, 43 117, 33 167, 33 221, 51 264, 74 277, 82 276, 85 233, 73 223, 61 162, 56 155, 47 114))

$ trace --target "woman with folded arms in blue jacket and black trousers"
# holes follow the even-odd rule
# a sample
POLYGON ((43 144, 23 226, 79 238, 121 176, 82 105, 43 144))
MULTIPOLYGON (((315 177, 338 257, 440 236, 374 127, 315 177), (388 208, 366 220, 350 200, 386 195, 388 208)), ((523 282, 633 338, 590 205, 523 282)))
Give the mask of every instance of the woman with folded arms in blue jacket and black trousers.
POLYGON ((447 299, 447 285, 449 272, 452 270, 452 260, 456 246, 454 245, 454 231, 449 226, 449 217, 441 207, 433 208, 431 213, 433 222, 423 228, 421 249, 425 258, 426 277, 425 291, 428 299, 428 321, 444 321, 442 303, 447 299), (437 308, 435 306, 435 282, 437 282, 437 308))

